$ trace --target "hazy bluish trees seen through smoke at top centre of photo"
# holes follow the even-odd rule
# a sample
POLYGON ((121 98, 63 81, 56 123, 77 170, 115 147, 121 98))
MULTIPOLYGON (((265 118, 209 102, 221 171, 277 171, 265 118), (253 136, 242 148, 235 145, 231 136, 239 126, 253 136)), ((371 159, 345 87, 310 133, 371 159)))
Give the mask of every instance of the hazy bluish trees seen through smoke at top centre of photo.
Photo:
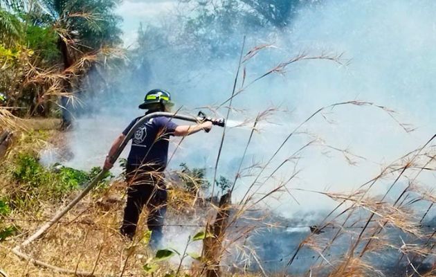
POLYGON ((141 26, 140 56, 164 46, 180 55, 197 53, 203 59, 237 53, 244 33, 273 33, 291 22, 299 8, 317 1, 301 0, 184 0, 188 11, 179 12, 172 26, 141 26))

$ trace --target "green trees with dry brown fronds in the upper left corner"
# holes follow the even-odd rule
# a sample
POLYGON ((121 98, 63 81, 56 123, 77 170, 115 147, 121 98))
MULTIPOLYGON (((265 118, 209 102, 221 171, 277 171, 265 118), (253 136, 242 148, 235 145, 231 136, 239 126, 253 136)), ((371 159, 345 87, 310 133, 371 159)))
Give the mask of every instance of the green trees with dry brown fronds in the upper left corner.
POLYGON ((115 7, 112 0, 0 1, 0 92, 12 114, 62 113, 70 124, 87 71, 121 43, 115 7))

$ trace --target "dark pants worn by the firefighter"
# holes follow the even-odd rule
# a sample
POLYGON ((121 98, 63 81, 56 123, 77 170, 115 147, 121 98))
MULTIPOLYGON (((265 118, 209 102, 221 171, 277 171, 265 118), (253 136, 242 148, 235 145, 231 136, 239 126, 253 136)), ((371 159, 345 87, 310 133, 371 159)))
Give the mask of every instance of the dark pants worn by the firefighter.
POLYGON ((162 238, 163 218, 167 211, 167 190, 163 172, 138 170, 127 166, 127 205, 124 209, 121 233, 133 238, 143 206, 148 209, 147 226, 152 231, 150 244, 158 247, 162 238))

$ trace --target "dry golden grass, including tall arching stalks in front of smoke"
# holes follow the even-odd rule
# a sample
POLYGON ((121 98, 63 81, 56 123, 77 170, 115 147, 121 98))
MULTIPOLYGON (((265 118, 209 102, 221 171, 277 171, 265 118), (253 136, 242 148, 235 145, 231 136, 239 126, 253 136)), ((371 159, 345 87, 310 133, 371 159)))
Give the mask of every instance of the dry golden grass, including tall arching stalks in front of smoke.
MULTIPOLYGON (((244 57, 242 55, 239 66, 266 47, 268 46, 260 46, 248 52, 245 56, 246 60, 242 60, 242 57, 244 57)), ((233 97, 266 75, 283 73, 286 66, 293 62, 318 59, 332 60, 343 65, 341 55, 310 56, 303 53, 291 58, 288 62, 275 66, 260 78, 248 82, 248 85, 245 85, 245 80, 243 80, 239 90, 236 89, 236 78, 235 89, 226 102, 231 102, 233 97)), ((245 74, 243 78, 245 78, 245 74)), ((224 226, 226 235, 217 238, 218 241, 224 241, 225 247, 221 249, 219 256, 224 261, 221 265, 226 271, 226 275, 274 276, 274 274, 269 274, 263 269, 262 262, 264 261, 260 260, 255 249, 249 244, 249 240, 253 234, 261 229, 285 228, 286 226, 280 226, 280 222, 278 224, 269 222, 268 215, 253 217, 255 213, 252 211, 257 210, 264 199, 275 197, 275 195, 288 193, 293 197, 292 192, 295 189, 291 188, 291 184, 299 174, 298 159, 300 155, 307 152, 309 146, 318 143, 318 141, 310 140, 284 161, 276 161, 278 153, 282 151, 283 146, 291 138, 300 132, 302 126, 306 125, 315 116, 322 116, 323 111, 327 109, 353 105, 375 107, 392 117, 394 122, 402 127, 405 132, 412 131, 411 127, 400 123, 394 117, 394 112, 386 107, 372 102, 356 100, 339 102, 321 107, 309 115, 295 129, 291 130, 284 141, 278 143, 277 150, 271 153, 271 157, 267 159, 266 163, 254 163, 253 166, 244 169, 241 162, 231 191, 236 187, 237 181, 243 177, 248 177, 250 180, 248 189, 239 203, 232 206, 230 220, 224 226), (270 166, 273 162, 277 163, 278 166, 271 169, 270 166), (289 172, 287 179, 277 181, 275 179, 276 172, 287 163, 294 163, 293 171, 289 172), (251 171, 251 173, 246 175, 244 172, 247 171, 251 171), (275 186, 269 192, 260 195, 258 192, 266 182, 275 186), (234 228, 241 222, 250 222, 250 224, 246 224, 241 228, 234 228), (236 256, 235 253, 237 253, 236 256), (253 264, 257 264, 260 270, 250 273, 249 269, 253 264)), ((230 111, 230 108, 231 103, 228 111, 230 111)), ((264 113, 260 113, 254 120, 246 121, 246 124, 251 125, 253 123, 253 126, 242 154, 242 160, 245 158, 247 149, 251 146, 251 139, 257 134, 258 123, 269 118, 272 111, 274 109, 269 109, 264 113)), ((48 125, 48 123, 44 124, 42 124, 42 127, 45 126, 48 129, 52 126, 48 125), (47 124, 47 126, 44 124, 47 124)), ((221 145, 224 141, 224 134, 221 145)), ((381 276, 383 272, 372 265, 373 258, 371 257, 381 256, 384 251, 392 251, 392 249, 397 251, 397 269, 401 271, 399 274, 402 276, 434 276, 436 271, 434 226, 433 229, 422 228, 420 224, 426 214, 418 213, 414 206, 417 202, 423 202, 429 206, 428 210, 430 210, 435 203, 434 190, 423 189, 421 184, 425 184, 425 182, 420 178, 422 172, 435 171, 434 139, 435 137, 429 138, 424 145, 417 147, 416 150, 384 166, 379 174, 361 184, 358 190, 351 193, 306 190, 307 193, 318 193, 333 199, 337 202, 337 206, 324 218, 320 218, 318 226, 300 241, 296 249, 289 249, 288 256, 284 260, 284 267, 281 269, 282 274, 278 274, 278 276, 286 276, 289 270, 296 266, 296 261, 298 261, 300 253, 303 251, 311 251, 310 253, 314 256, 308 262, 307 272, 302 276, 381 276), (400 182, 408 184, 408 186, 399 195, 394 195, 393 199, 389 199, 388 195, 392 195, 392 191, 394 191, 394 188, 399 187, 400 182), (377 186, 382 186, 387 192, 384 195, 375 197, 372 190, 377 186), (329 228, 333 229, 333 235, 327 237, 321 233, 329 228), (392 235, 392 230, 395 231, 394 235, 392 235), (347 240, 345 245, 343 238, 347 240), (338 246, 341 246, 342 250, 331 253, 332 249, 338 246), (422 270, 424 269, 423 262, 426 260, 430 262, 430 265, 422 270), (433 265, 431 262, 433 262, 433 265)), ((35 145, 35 143, 29 144, 33 145, 33 147, 35 145)), ((352 162, 351 158, 365 159, 365 157, 352 154, 349 150, 341 150, 331 145, 324 146, 327 150, 342 152, 345 159, 349 160, 352 165, 355 163, 352 162)), ((21 146, 17 145, 17 147, 21 146)), ((215 176, 218 163, 219 158, 215 165, 215 176)), ((143 265, 149 262, 153 255, 142 240, 146 234, 144 224, 138 225, 140 229, 133 242, 127 242, 118 234, 124 202, 124 189, 125 184, 116 181, 105 190, 94 190, 90 195, 87 195, 83 202, 73 208, 66 217, 62 218, 55 228, 48 231, 43 238, 33 242, 30 247, 24 250, 34 258, 67 269, 89 271, 107 276, 147 276, 147 273, 143 270, 143 265)), ((198 222, 199 227, 204 229, 203 224, 209 225, 219 209, 213 203, 209 204, 201 200, 198 191, 193 194, 173 184, 172 190, 170 190, 169 213, 172 213, 173 217, 177 217, 179 222, 183 222, 183 220, 198 222), (204 208, 204 206, 207 206, 207 208, 204 208), (186 216, 187 214, 189 215, 186 216)), ((71 195, 68 197, 71 197, 71 195)), ((42 209, 37 213, 35 211, 14 211, 9 215, 8 219, 5 219, 6 223, 17 224, 22 230, 19 235, 3 242, 0 248, 1 267, 11 276, 26 276, 26 274, 29 274, 29 276, 56 276, 51 271, 40 269, 28 262, 19 260, 10 253, 9 249, 23 241, 40 223, 51 217, 60 208, 59 205, 62 206, 63 204, 64 202, 42 202, 42 209)), ((144 217, 145 215, 142 216, 142 220, 144 220, 144 217)), ((175 271, 177 267, 181 269, 181 273, 190 274, 190 276, 200 276, 204 271, 204 267, 200 262, 195 262, 193 265, 186 267, 180 265, 163 264, 153 276, 165 276, 171 270, 175 271)), ((179 274, 179 276, 183 276, 183 274, 179 274)))

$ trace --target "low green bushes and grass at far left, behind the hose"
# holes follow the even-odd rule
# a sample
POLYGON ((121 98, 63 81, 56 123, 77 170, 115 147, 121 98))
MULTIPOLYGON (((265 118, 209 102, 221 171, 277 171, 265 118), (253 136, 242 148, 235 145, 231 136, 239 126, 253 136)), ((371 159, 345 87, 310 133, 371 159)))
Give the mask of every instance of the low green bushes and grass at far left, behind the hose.
MULTIPOLYGON (((15 150, 9 152, 3 161, 0 174, 3 177, 1 195, 9 208, 18 210, 37 209, 44 202, 59 203, 67 195, 77 192, 101 168, 92 168, 89 172, 55 164, 45 168, 39 163, 38 154, 46 144, 47 131, 34 131, 21 137, 15 144, 15 150)), ((113 175, 105 175, 100 188, 107 185, 113 175)), ((0 204, 0 206, 2 206, 0 204)), ((44 206, 44 205, 43 205, 44 206)))

